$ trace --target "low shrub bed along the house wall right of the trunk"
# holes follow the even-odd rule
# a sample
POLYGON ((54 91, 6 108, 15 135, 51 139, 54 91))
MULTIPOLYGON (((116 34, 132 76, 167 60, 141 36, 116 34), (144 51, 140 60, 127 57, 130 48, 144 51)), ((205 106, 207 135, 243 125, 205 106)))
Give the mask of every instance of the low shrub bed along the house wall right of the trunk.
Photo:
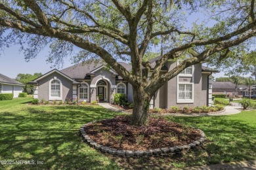
POLYGON ((152 113, 207 113, 207 112, 217 112, 224 109, 224 105, 215 105, 212 107, 208 106, 202 106, 202 107, 177 107, 172 106, 170 109, 160 109, 160 108, 154 108, 150 109, 150 112, 152 113))

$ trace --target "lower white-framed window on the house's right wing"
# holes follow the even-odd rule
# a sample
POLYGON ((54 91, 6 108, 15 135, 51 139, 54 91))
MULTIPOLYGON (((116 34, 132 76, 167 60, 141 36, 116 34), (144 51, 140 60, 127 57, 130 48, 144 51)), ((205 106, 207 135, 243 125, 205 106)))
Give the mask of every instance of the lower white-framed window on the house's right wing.
POLYGON ((192 84, 179 84, 179 100, 192 100, 192 84))

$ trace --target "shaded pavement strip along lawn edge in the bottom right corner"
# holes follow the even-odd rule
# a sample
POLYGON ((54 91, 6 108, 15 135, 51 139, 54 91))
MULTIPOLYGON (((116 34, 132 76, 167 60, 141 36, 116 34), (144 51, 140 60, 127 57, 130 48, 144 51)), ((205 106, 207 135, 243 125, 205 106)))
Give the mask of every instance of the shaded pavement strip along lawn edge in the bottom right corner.
POLYGON ((230 163, 218 163, 213 165, 204 165, 197 167, 185 167, 184 170, 220 170, 220 169, 256 169, 256 160, 234 161, 230 163))

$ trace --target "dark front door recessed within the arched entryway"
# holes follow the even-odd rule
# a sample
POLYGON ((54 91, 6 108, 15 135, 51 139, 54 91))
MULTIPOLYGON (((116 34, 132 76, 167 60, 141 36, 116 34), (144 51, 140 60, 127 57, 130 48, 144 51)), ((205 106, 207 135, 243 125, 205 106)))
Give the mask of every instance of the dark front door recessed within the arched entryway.
POLYGON ((109 86, 106 80, 99 80, 96 84, 96 97, 101 102, 108 102, 109 86))

